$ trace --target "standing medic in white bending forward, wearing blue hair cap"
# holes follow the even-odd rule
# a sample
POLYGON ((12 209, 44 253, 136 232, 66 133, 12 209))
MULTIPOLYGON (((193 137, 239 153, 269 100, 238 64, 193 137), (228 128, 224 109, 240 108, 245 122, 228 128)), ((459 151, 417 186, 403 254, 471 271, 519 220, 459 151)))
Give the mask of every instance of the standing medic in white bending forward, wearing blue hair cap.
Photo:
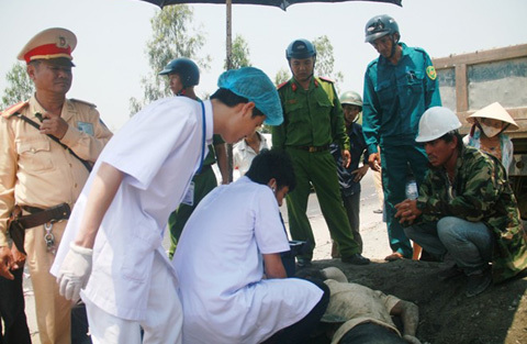
POLYGON ((96 344, 181 343, 177 275, 161 246, 168 215, 191 192, 213 133, 233 143, 264 120, 282 122, 261 70, 228 70, 217 85, 202 103, 171 97, 135 114, 100 155, 74 208, 52 274, 67 299, 83 288, 96 344))

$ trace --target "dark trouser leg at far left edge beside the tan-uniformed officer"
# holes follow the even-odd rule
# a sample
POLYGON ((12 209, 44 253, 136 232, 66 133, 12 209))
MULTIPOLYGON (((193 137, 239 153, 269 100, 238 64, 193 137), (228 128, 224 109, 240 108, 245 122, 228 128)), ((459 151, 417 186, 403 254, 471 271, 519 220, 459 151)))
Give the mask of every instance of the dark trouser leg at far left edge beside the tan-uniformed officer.
MULTIPOLYGON (((0 315, 5 329, 0 331, 2 344, 31 344, 30 329, 25 318, 24 291, 22 288, 23 268, 12 270, 14 280, 0 277, 0 315)), ((0 323, 1 330, 1 323, 0 323)))

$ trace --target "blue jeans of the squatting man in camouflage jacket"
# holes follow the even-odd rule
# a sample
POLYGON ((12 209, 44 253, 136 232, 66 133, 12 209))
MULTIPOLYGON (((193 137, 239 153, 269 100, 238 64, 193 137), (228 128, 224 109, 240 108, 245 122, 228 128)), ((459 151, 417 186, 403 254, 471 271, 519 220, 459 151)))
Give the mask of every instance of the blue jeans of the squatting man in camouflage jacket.
POLYGON ((492 260, 493 235, 483 222, 445 217, 406 228, 404 232, 436 257, 450 254, 466 275, 485 270, 492 260))

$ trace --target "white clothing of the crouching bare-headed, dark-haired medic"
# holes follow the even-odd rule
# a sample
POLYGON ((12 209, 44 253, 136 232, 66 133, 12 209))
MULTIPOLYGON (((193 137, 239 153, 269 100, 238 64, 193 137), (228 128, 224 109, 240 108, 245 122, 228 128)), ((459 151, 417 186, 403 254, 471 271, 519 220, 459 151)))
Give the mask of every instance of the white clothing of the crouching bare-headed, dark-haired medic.
POLYGON ((190 217, 172 264, 183 304, 183 343, 260 343, 304 318, 314 284, 262 279, 262 254, 289 251, 268 186, 242 177, 209 193, 190 217))

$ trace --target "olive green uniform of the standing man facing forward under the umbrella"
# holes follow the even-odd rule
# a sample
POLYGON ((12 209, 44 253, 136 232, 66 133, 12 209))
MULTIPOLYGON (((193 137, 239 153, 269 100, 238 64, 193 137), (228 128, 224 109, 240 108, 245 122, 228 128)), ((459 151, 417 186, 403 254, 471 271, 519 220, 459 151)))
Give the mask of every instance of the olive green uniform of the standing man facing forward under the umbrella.
POLYGON ((313 256, 315 240, 307 219, 311 185, 343 258, 359 253, 340 198, 335 160, 329 144, 349 149, 340 102, 333 81, 313 78, 307 90, 295 80, 279 86, 283 123, 272 127, 272 147, 285 149, 293 162, 296 188, 288 195, 289 229, 293 240, 307 241, 313 256))

